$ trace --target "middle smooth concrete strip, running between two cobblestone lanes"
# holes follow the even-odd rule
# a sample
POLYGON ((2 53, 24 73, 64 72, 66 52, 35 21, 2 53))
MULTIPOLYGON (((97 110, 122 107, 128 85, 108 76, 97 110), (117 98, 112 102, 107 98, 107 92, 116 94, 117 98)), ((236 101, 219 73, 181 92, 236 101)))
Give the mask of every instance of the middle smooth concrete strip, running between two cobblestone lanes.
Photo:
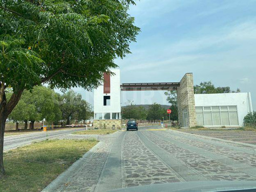
POLYGON ((183 162, 177 160, 172 155, 166 153, 162 148, 158 147, 152 141, 148 140, 142 132, 138 132, 138 136, 143 143, 156 154, 168 167, 174 170, 175 175, 181 181, 203 181, 206 177, 199 174, 195 169, 186 166, 183 162))

